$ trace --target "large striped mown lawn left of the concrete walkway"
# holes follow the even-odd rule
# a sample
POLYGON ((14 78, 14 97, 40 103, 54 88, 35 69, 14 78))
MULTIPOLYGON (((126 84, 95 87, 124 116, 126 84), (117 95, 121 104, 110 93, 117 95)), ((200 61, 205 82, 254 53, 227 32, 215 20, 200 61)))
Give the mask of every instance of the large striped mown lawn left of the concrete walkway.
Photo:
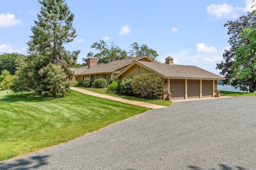
POLYGON ((148 109, 76 91, 57 99, 0 91, 0 161, 76 139, 148 109))

